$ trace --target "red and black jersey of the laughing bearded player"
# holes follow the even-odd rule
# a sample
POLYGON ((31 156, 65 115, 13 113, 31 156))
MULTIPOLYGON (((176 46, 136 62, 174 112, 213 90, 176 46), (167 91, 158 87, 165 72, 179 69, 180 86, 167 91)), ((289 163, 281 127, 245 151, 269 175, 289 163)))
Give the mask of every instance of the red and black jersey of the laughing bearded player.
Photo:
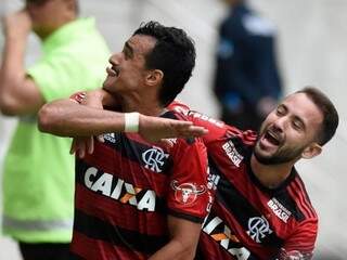
POLYGON ((203 224, 200 258, 310 259, 318 217, 295 168, 279 187, 268 188, 250 169, 255 132, 189 110, 181 103, 172 103, 169 108, 209 130, 203 140, 210 176, 218 179, 218 184, 203 224))

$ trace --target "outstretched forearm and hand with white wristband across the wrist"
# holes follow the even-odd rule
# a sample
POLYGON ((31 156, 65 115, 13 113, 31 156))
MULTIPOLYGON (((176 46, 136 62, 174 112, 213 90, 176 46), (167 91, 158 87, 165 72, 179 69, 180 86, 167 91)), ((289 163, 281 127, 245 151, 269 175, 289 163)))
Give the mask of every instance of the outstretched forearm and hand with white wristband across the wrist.
POLYGON ((73 138, 138 131, 149 141, 200 136, 206 133, 204 128, 193 126, 190 121, 104 110, 80 105, 69 99, 43 105, 39 110, 39 129, 42 132, 73 138))

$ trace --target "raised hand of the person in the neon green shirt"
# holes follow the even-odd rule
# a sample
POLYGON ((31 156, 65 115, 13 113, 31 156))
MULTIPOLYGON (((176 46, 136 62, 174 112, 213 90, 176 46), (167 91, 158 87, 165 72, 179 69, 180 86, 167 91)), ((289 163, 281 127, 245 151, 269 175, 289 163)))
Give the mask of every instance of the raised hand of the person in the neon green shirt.
POLYGON ((33 22, 26 10, 3 17, 3 34, 5 37, 26 39, 31 28, 33 22))

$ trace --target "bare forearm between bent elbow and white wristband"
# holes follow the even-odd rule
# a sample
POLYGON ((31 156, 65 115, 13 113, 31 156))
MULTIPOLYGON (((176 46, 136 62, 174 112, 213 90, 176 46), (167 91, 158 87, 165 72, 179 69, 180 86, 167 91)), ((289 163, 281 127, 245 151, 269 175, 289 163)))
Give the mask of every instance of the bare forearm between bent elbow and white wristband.
POLYGON ((39 110, 39 129, 61 136, 89 136, 124 131, 125 119, 121 113, 60 100, 43 105, 39 110))

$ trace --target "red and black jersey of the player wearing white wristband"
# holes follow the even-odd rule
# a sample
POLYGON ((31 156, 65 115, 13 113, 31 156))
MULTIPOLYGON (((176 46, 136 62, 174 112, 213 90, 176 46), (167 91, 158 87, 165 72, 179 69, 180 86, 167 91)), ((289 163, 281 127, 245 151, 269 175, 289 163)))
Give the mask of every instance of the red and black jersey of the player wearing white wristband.
POLYGON ((160 145, 137 133, 108 133, 104 140, 76 159, 75 258, 147 259, 169 240, 168 213, 203 222, 211 198, 201 139, 160 145))

